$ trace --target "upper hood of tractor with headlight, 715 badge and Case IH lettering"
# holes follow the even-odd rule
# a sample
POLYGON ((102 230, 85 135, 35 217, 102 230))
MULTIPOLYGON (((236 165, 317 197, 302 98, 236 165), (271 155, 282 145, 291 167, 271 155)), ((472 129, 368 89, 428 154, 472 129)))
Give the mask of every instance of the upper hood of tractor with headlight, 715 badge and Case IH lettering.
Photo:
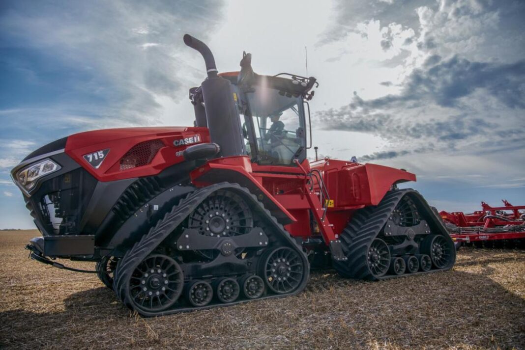
POLYGON ((71 164, 98 181, 151 176, 183 162, 188 146, 208 142, 208 129, 202 127, 93 130, 38 148, 13 168, 11 176, 26 196, 71 164))

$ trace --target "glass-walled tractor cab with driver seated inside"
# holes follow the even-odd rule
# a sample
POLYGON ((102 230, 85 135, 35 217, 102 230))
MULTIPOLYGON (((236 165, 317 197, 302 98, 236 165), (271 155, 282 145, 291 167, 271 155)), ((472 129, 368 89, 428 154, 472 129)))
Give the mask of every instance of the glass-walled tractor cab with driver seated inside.
MULTIPOLYGON (((259 165, 296 166, 295 160, 306 159, 306 150, 311 147, 311 133, 310 146, 306 136, 307 127, 310 128, 308 101, 314 95, 310 90, 319 84, 313 77, 288 73, 256 74, 249 53, 243 54, 240 65, 240 72, 220 73, 218 78, 231 84, 243 154, 259 165)), ((194 105, 203 100, 199 94, 202 94, 200 87, 190 91, 194 105)), ((204 113, 208 111, 209 108, 204 113)), ((197 112, 196 107, 198 124, 197 112)))

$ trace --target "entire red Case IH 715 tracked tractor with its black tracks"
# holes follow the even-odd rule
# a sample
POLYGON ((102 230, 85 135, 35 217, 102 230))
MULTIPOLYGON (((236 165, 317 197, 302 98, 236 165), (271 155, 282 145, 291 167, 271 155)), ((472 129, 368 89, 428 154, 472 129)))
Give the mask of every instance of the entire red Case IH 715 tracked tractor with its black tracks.
POLYGON ((439 216, 397 189, 414 174, 308 161, 315 78, 255 74, 246 53, 218 74, 203 42, 184 42, 206 63, 194 127, 75 134, 12 170, 43 234, 31 257, 97 261, 145 316, 297 294, 311 267, 380 280, 454 265, 439 216))

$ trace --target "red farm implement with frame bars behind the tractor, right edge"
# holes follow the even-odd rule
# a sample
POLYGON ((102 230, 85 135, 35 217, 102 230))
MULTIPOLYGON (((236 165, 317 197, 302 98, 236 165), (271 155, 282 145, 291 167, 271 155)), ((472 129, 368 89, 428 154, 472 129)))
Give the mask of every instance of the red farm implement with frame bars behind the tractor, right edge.
POLYGON ((505 206, 492 207, 481 202, 482 210, 471 214, 463 212, 441 211, 439 215, 443 221, 465 228, 464 232, 452 232, 450 236, 454 240, 464 242, 479 242, 482 240, 502 240, 525 238, 525 229, 522 225, 525 205, 514 206, 502 200, 505 206), (491 233, 491 228, 507 228, 506 232, 491 233))

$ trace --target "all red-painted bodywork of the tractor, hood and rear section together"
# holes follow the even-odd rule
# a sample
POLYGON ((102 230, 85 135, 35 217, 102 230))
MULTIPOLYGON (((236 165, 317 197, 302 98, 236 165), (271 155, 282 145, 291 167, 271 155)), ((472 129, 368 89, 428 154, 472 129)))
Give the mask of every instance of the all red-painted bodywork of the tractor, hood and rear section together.
MULTIPOLYGON (((69 136, 66 153, 99 181, 115 181, 158 174, 163 169, 184 161, 182 150, 189 145, 174 146, 174 140, 200 136, 209 142, 207 128, 147 127, 106 129, 69 136), (122 157, 135 145, 144 141, 161 140, 164 146, 145 166, 119 170, 122 157), (83 156, 110 149, 101 166, 93 168, 83 156)), ((415 181, 413 173, 374 164, 323 159, 300 165, 267 166, 252 163, 248 156, 225 157, 207 161, 190 173, 196 187, 230 181, 239 183, 256 194, 265 207, 282 222, 292 236, 322 235, 325 242, 337 239, 351 220, 353 212, 368 205, 377 205, 392 185, 415 181), (308 173, 319 171, 333 202, 320 201, 320 183, 308 173)))

